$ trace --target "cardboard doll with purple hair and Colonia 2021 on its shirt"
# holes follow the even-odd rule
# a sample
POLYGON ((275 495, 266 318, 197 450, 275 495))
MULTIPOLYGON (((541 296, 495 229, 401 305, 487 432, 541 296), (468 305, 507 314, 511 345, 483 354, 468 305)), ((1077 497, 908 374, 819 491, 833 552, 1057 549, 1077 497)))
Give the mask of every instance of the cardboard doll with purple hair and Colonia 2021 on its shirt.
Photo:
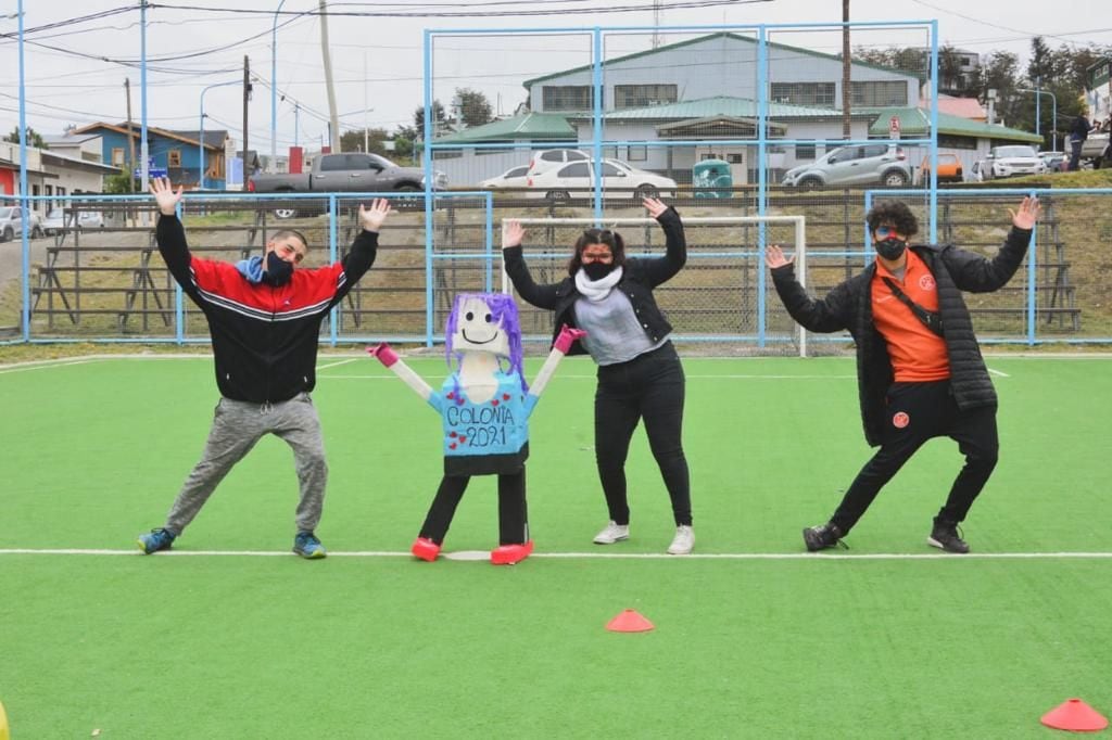
POLYGON ((528 418, 556 366, 582 336, 565 327, 529 387, 522 371, 522 329, 513 297, 460 293, 445 328, 445 354, 454 371, 439 392, 389 344, 368 350, 441 419, 444 478, 413 544, 414 556, 436 560, 471 476, 498 477, 498 548, 490 552, 490 562, 513 564, 533 552, 525 502, 528 418))

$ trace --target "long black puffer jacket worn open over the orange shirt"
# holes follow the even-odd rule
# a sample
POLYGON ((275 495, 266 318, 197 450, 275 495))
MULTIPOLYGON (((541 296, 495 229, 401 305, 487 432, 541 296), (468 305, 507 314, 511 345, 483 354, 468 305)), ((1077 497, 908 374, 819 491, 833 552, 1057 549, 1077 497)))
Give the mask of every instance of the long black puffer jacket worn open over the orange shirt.
MULTIPOLYGON (((981 357, 973 322, 961 291, 991 292, 1015 274, 1031 242, 1031 231, 1012 228, 993 259, 953 246, 915 246, 912 251, 926 263, 939 286, 939 312, 950 356, 950 380, 962 410, 995 407, 996 391, 981 357)), ((794 264, 772 271, 776 292, 787 312, 811 331, 848 331, 857 344, 857 392, 865 439, 881 443, 885 396, 892 384, 887 344, 873 324, 872 284, 876 264, 835 286, 822 300, 811 298, 795 279, 794 264)))

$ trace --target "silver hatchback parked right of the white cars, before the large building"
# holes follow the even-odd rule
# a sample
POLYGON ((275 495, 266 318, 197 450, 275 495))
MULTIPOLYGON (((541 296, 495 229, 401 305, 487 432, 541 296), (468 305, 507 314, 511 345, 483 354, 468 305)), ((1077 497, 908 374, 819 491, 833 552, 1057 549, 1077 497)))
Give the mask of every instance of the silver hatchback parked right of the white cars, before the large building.
POLYGON ((813 162, 793 167, 784 174, 786 187, 816 188, 828 184, 870 184, 900 188, 912 181, 911 164, 902 147, 862 144, 838 147, 813 162))

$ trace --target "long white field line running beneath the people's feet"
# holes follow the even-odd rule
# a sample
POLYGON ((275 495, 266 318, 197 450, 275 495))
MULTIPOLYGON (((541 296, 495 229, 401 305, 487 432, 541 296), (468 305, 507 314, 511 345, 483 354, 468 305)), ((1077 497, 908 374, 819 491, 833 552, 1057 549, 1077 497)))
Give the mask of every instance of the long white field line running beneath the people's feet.
MULTIPOLYGON (((85 548, 4 548, 0 556, 130 556, 143 557, 138 548, 127 550, 98 550, 85 548)), ((159 558, 291 558, 289 550, 170 550, 157 553, 159 558)), ((385 550, 363 550, 351 552, 330 551, 329 558, 413 558, 409 552, 385 550)), ((460 550, 441 552, 446 560, 487 560, 485 550, 460 550)), ((663 552, 534 552, 530 559, 553 560, 1110 560, 1112 552, 971 552, 950 554, 945 552, 901 553, 863 552, 716 552, 671 556, 663 552)))

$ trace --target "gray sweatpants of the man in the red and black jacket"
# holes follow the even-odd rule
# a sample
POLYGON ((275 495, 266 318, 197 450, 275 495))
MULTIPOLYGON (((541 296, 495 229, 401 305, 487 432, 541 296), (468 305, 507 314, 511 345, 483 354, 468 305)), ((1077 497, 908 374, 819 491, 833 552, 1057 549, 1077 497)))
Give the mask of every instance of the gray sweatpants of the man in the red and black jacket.
POLYGON ((298 531, 311 532, 320 521, 328 464, 320 418, 308 393, 280 403, 249 403, 221 398, 205 443, 205 453, 186 479, 166 519, 166 528, 181 534, 231 468, 264 434, 280 437, 294 450, 301 488, 297 506, 298 531))

